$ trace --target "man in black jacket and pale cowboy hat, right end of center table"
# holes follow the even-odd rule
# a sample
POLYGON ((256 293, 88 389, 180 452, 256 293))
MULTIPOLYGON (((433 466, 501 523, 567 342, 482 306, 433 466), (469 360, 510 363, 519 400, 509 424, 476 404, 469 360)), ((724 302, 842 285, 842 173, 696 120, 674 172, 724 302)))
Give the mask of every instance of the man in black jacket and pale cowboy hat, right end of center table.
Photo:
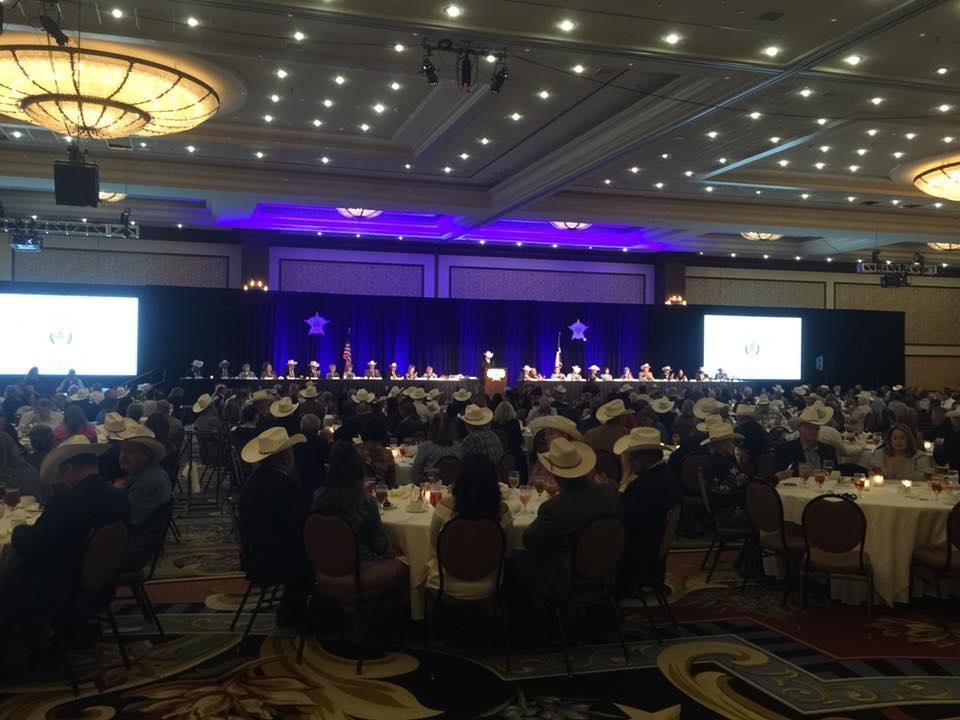
POLYGON ((620 504, 626 531, 621 585, 637 582, 663 585, 666 563, 660 562, 660 540, 667 513, 680 502, 673 473, 663 461, 663 444, 654 428, 634 428, 617 440, 613 451, 623 457, 626 473, 620 483, 620 504))

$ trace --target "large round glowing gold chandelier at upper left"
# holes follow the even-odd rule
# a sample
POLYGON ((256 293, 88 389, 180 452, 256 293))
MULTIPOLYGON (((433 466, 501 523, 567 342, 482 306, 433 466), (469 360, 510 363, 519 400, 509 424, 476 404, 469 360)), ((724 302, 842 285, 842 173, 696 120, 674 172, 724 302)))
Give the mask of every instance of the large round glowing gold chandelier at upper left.
POLYGON ((0 45, 0 113, 56 133, 169 135, 219 109, 216 90, 163 62, 100 47, 0 45))

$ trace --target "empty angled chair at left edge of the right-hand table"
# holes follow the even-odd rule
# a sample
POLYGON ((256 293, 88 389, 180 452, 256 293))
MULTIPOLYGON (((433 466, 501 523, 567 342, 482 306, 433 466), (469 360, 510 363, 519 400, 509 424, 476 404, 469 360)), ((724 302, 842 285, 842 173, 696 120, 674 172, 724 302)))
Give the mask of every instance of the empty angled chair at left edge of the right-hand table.
MULTIPOLYGON (((786 565, 786 576, 783 582, 783 606, 787 605, 790 595, 790 575, 795 568, 799 568, 800 559, 806 545, 803 540, 803 528, 796 523, 788 523, 783 519, 783 500, 773 487, 765 482, 754 480, 747 485, 744 491, 744 500, 747 516, 750 518, 750 527, 753 530, 748 539, 749 549, 752 551, 750 560, 763 562, 765 557, 782 558, 786 565), (796 561, 796 565, 794 565, 796 561)), ((751 565, 748 564, 748 568, 751 565)), ((750 573, 743 574, 741 594, 747 590, 750 573)))

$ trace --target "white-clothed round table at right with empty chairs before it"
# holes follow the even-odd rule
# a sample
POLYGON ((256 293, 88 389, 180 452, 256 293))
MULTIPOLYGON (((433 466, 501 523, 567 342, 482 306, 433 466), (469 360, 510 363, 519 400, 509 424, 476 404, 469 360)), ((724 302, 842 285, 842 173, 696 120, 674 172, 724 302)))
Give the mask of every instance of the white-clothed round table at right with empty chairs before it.
MULTIPOLYGON (((824 488, 828 492, 856 492, 849 479, 839 488, 828 481, 824 488)), ((781 483, 777 490, 783 500, 784 519, 796 523, 807 503, 821 494, 812 482, 808 487, 781 483)), ((946 543, 947 516, 957 498, 943 495, 935 497, 922 481, 913 483, 909 496, 900 493, 897 480, 887 480, 882 488, 863 491, 858 504, 867 519, 864 549, 873 565, 876 594, 887 605, 910 600, 910 559, 914 549, 946 543)), ((832 582, 834 597, 849 603, 865 600, 866 587, 866 583, 856 580, 832 582)), ((917 587, 915 592, 921 589, 917 587)))

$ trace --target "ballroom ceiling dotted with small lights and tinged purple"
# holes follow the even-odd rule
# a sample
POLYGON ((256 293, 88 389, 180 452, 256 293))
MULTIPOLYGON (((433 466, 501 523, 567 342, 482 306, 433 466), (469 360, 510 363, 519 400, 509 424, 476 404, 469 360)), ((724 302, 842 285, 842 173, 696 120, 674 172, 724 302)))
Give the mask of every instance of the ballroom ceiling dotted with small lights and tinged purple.
MULTIPOLYGON (((40 6, 6 2, 0 46, 40 6)), ((87 143, 141 225, 810 260, 957 241, 957 203, 898 169, 960 152, 958 0, 58 7, 81 46, 152 47, 222 73, 224 107, 199 127, 87 143), (424 43, 435 86, 418 72, 424 43), (468 90, 444 44, 477 51, 468 90), (385 212, 355 221, 340 206, 385 212)), ((0 130, 8 215, 116 214, 54 205, 63 137, 12 119, 0 130)))

